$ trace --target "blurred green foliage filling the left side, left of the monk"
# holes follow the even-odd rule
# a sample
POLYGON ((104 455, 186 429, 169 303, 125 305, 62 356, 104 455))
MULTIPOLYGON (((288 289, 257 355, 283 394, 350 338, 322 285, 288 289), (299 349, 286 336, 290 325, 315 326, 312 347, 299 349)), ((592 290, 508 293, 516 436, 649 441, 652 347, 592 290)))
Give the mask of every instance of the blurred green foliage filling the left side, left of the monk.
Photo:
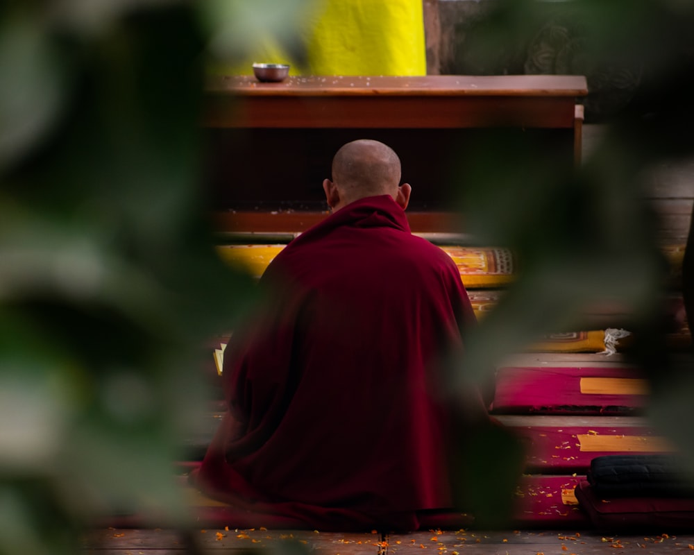
POLYGON ((75 553, 114 513, 186 525, 198 353, 254 291, 205 221, 205 49, 289 40, 303 3, 0 7, 0 553, 75 553))

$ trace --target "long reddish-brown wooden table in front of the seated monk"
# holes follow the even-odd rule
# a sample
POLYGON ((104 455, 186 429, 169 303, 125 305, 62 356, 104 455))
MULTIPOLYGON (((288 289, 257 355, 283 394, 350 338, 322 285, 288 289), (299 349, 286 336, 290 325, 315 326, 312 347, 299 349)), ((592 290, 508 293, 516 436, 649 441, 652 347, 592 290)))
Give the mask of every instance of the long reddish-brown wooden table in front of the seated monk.
POLYGON ((413 230, 459 232, 450 198, 476 148, 511 141, 538 164, 570 169, 582 146, 577 98, 586 93, 579 76, 214 78, 203 114, 214 228, 301 232, 325 217, 321 183, 337 148, 372 138, 400 155, 414 187, 413 230))

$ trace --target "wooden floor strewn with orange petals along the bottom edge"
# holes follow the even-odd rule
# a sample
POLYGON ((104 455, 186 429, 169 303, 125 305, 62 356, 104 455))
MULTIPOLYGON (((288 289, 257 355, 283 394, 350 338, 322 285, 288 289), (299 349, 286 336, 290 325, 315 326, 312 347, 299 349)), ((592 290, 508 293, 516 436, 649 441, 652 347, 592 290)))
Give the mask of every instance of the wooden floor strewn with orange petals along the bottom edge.
POLYGON ((639 555, 694 550, 694 534, 602 536, 592 531, 427 531, 408 534, 321 531, 102 529, 88 533, 83 554, 180 555, 254 552, 302 555, 639 555))

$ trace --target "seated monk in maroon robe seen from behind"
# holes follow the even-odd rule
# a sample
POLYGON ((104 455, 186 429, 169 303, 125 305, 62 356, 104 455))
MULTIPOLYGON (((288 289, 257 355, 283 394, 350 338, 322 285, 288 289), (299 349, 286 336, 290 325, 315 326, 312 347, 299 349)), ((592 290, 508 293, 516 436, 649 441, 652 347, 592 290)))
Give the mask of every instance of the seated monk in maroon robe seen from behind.
POLYGON ((475 316, 450 257, 410 232, 391 148, 342 146, 323 189, 332 214, 273 259, 227 347, 228 414, 194 481, 257 526, 415 530, 452 509, 437 370, 475 316))

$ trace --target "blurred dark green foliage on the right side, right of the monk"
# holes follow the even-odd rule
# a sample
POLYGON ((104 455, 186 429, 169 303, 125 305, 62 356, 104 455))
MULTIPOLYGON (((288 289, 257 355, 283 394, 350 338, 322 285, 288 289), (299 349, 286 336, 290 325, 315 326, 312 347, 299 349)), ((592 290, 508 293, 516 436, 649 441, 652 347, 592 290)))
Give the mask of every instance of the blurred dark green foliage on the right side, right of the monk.
MULTIPOLYGON (((593 110, 594 119, 612 113, 602 119, 604 139, 575 171, 552 158, 551 144, 546 160, 530 155, 538 144, 528 147, 529 130, 521 140, 482 137, 466 154, 473 160, 460 187, 466 228, 481 244, 516 250, 521 275, 468 338, 464 370, 484 380, 505 355, 541 334, 591 329, 586 307, 620 307, 629 315, 623 325, 636 333, 632 355, 652 379, 650 416, 694 462, 687 425, 694 418, 694 368, 689 357, 675 364, 663 346, 668 268, 644 200, 654 164, 694 154, 694 3, 514 0, 488 6, 464 43, 468 67, 493 73, 501 63, 511 73, 585 74, 586 111, 593 110), (527 60, 536 65, 528 67, 527 60), (623 79, 627 71, 638 76, 638 88, 618 95, 619 103, 614 95, 605 102, 607 91, 632 87, 623 79), (596 115, 598 105, 609 110, 596 115)), ((464 372, 457 384, 466 386, 464 372)), ((495 487, 496 479, 489 479, 486 485, 495 487)), ((484 497, 474 503, 484 508, 484 497)))

